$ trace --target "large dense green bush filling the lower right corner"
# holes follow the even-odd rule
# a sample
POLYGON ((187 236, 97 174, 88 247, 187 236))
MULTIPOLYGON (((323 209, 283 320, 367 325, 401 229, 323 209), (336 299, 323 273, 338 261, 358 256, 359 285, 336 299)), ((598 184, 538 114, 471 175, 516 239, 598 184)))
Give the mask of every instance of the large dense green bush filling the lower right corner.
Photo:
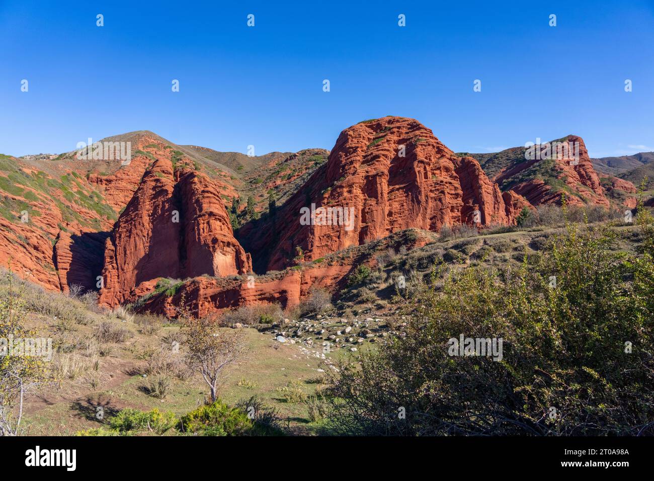
POLYGON ((519 268, 453 268, 416 289, 405 335, 330 380, 333 431, 654 434, 654 224, 642 226, 638 255, 607 228, 569 225, 519 268), (502 338, 502 359, 451 355, 461 334, 502 338))

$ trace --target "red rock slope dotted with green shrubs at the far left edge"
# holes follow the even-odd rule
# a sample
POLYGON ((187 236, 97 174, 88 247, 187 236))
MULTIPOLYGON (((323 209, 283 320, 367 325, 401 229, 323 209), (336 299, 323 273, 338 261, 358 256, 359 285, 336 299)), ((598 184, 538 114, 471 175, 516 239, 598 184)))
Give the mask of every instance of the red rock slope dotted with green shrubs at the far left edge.
POLYGON ((0 191, 0 201, 9 206, 11 214, 9 219, 0 217, 0 265, 10 266, 18 276, 53 291, 67 291, 69 283, 87 287, 90 271, 84 270, 94 265, 92 257, 101 260, 102 251, 85 232, 94 227, 109 229, 113 223, 92 209, 88 201, 84 203, 94 199, 94 187, 82 176, 74 177, 64 170, 61 173, 70 174, 64 191, 50 185, 58 183, 61 175, 48 175, 25 160, 10 159, 15 172, 20 173, 13 179, 20 181, 10 181, 13 193, 0 191), (27 216, 22 215, 25 211, 27 216), (59 240, 61 245, 53 248, 59 240), (70 245, 65 247, 66 243, 70 245), (67 269, 73 258, 83 260, 69 281, 67 269))

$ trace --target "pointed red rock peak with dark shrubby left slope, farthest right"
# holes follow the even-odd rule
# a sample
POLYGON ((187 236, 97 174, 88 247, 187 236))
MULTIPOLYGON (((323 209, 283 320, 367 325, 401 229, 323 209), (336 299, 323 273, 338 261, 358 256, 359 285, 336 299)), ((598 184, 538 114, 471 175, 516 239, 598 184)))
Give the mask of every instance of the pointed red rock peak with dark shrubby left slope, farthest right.
POLYGON ((547 153, 546 160, 521 159, 500 171, 493 181, 500 184, 509 183, 512 190, 525 197, 532 205, 560 204, 561 195, 566 194, 566 202, 570 205, 594 204, 609 207, 609 200, 604 195, 600 178, 593 168, 583 139, 577 135, 568 135, 565 139, 570 145, 568 149, 557 152, 552 148, 551 152, 547 153), (530 172, 530 169, 545 164, 549 181, 530 172), (528 178, 521 180, 521 174, 528 178))

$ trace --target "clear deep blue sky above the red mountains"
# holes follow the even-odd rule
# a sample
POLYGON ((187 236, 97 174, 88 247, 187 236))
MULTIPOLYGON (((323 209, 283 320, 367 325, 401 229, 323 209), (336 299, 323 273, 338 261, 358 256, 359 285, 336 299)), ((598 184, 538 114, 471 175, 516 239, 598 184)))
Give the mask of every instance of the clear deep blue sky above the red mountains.
POLYGON ((384 115, 454 151, 566 134, 591 156, 654 150, 652 1, 498 3, 0 0, 0 152, 132 130, 218 151, 332 149, 384 115))

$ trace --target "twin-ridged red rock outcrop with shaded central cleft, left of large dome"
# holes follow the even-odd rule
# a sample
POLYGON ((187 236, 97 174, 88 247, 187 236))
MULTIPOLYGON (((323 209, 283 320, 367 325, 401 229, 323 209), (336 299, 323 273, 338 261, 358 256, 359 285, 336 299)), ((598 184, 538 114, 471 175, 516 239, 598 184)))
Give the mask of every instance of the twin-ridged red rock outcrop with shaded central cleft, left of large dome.
POLYGON ((251 270, 233 238, 216 185, 168 159, 156 160, 105 243, 99 303, 115 306, 157 277, 229 276, 251 270))

